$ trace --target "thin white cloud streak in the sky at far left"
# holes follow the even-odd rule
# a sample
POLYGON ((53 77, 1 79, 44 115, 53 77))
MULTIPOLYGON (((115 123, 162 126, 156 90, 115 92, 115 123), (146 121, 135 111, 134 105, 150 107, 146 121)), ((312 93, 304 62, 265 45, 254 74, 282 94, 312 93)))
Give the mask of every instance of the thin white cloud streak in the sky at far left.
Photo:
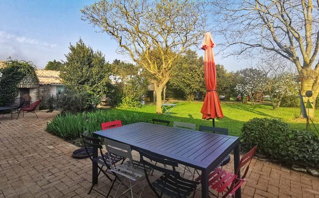
POLYGON ((43 41, 39 41, 37 39, 34 38, 26 38, 24 36, 17 36, 15 34, 10 34, 6 31, 0 31, 0 40, 13 40, 15 42, 18 43, 26 43, 26 44, 34 44, 34 45, 40 45, 40 46, 44 46, 44 47, 56 47, 57 44, 52 44, 52 43, 47 43, 47 42, 43 42, 43 41))

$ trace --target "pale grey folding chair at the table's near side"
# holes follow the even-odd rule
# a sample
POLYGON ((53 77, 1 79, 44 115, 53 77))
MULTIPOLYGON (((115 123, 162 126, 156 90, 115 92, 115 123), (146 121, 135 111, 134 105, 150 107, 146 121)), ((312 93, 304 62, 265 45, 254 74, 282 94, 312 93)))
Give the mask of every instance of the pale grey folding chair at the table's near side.
MULTIPOLYGON (((113 172, 117 176, 112 183, 112 186, 109 190, 107 197, 109 197, 109 195, 112 191, 112 188, 114 186, 114 183, 117 179, 120 180, 121 183, 119 184, 119 186, 116 190, 114 198, 116 197, 122 184, 124 184, 123 183, 124 179, 128 179, 130 182, 130 185, 129 185, 129 187, 125 185, 128 189, 126 191, 124 191, 122 193, 122 195, 131 191, 131 196, 133 198, 133 187, 138 185, 145 178, 145 173, 144 173, 144 169, 142 167, 142 164, 140 164, 140 162, 133 160, 130 145, 122 144, 119 142, 114 142, 114 141, 109 140, 109 139, 104 139, 104 142, 105 142, 105 145, 106 145, 106 148, 107 148, 109 154, 111 154, 111 155, 109 155, 109 159, 110 159, 110 163, 111 163, 111 172, 113 172), (121 157, 127 158, 129 160, 123 164, 115 165, 112 163, 112 156, 121 156, 121 157), (132 185, 132 182, 136 182, 136 183, 134 185, 132 185)), ((141 191, 140 197, 143 193, 145 185, 146 185, 146 183, 141 188, 142 191, 141 191)))

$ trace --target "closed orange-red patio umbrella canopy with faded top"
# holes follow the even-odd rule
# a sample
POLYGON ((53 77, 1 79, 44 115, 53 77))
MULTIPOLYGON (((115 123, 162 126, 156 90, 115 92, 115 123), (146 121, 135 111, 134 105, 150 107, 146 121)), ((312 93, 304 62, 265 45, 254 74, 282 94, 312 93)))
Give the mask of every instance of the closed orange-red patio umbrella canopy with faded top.
POLYGON ((216 117, 224 117, 223 111, 221 110, 219 98, 216 92, 217 78, 213 52, 214 45, 215 43, 210 32, 206 32, 201 49, 205 50, 204 72, 207 93, 205 96, 204 104, 200 110, 200 112, 203 114, 202 118, 206 120, 214 119, 216 117))

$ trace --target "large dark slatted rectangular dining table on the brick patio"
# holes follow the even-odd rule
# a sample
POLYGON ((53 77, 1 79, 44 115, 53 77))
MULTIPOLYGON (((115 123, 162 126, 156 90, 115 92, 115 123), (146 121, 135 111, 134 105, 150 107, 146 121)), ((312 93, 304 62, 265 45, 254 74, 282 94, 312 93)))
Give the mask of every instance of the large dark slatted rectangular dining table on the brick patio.
MULTIPOLYGON (((218 164, 234 151, 234 170, 239 165, 239 138, 173 128, 151 123, 134 123, 122 127, 97 131, 93 137, 107 138, 128 144, 133 150, 148 150, 159 154, 164 159, 178 162, 201 171, 202 198, 208 198, 208 175, 218 164)), ((98 149, 93 148, 93 157, 98 156, 98 149)), ((240 175, 238 176, 240 177, 240 175)), ((92 183, 98 183, 97 164, 92 166, 92 183)), ((239 188, 235 194, 241 197, 239 188)))

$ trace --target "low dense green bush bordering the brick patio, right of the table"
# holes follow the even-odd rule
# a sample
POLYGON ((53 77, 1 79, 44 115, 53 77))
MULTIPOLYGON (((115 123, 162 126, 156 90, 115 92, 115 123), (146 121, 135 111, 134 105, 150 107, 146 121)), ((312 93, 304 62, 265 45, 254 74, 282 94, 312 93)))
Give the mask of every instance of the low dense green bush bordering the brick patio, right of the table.
POLYGON ((312 132, 291 131, 278 119, 254 118, 243 125, 242 147, 258 145, 257 153, 286 164, 319 167, 319 138, 312 132))

